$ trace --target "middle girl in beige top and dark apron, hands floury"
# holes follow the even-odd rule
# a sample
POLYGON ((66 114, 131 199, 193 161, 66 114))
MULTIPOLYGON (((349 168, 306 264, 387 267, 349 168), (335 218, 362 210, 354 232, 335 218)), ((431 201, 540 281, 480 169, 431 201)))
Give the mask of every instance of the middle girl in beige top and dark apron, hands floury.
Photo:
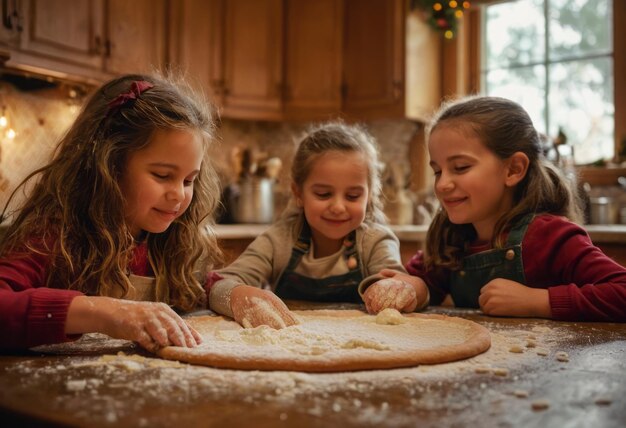
POLYGON ((244 326, 281 328, 295 317, 270 293, 363 303, 371 313, 423 307, 427 291, 406 274, 398 239, 384 225, 378 165, 375 141, 364 129, 314 128, 294 157, 291 205, 237 260, 210 275, 210 308, 244 326))

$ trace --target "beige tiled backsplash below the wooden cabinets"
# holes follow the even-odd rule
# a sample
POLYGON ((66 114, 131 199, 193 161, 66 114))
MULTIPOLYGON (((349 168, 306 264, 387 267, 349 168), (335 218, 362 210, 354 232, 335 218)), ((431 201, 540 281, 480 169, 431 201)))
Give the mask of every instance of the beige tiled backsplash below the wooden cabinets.
MULTIPOLYGON (((9 125, 17 135, 0 140, 0 204, 29 172, 50 158, 55 144, 70 126, 78 106, 67 90, 20 91, 0 81, 0 107, 6 107, 9 125)), ((409 120, 379 120, 365 124, 380 145, 381 160, 410 171, 409 144, 421 128, 409 120)), ((231 166, 234 147, 252 148, 283 162, 278 190, 287 194, 291 158, 309 124, 251 122, 223 119, 217 130, 213 159, 223 184, 236 179, 231 166)), ((4 135, 4 130, 2 130, 4 135)))

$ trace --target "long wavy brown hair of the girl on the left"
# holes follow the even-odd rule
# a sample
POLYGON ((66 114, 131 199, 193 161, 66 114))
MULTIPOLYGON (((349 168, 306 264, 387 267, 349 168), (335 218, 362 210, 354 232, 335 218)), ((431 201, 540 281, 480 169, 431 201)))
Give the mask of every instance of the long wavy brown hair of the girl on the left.
POLYGON ((165 232, 147 234, 156 299, 183 311, 204 304, 206 272, 221 258, 213 232, 220 189, 208 152, 214 121, 211 104, 181 77, 125 75, 100 87, 61 138, 52 160, 29 174, 9 198, 2 218, 10 218, 11 224, 0 255, 45 255, 50 260, 48 287, 127 295, 136 243, 125 223, 119 180, 129 155, 150 144, 156 131, 168 130, 198 135, 204 158, 188 209, 165 232), (154 86, 110 108, 133 81, 154 86), (26 200, 9 210, 16 192, 26 188, 26 200))

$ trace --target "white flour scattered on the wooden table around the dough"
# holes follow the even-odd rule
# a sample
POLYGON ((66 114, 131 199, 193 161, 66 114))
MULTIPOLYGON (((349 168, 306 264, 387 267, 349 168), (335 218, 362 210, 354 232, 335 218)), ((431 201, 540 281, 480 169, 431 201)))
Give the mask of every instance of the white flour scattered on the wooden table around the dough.
MULTIPOLYGON (((113 339, 102 335, 85 335, 82 341, 64 344, 65 348, 71 348, 66 350, 72 356, 62 357, 60 362, 43 366, 32 362, 18 363, 9 370, 23 375, 20 384, 12 385, 15 391, 20 388, 27 391, 29 385, 32 388, 42 379, 48 385, 59 385, 58 397, 50 405, 71 411, 85 423, 123 424, 125 418, 148 405, 172 402, 192 405, 215 400, 243 401, 251 406, 274 406, 277 409, 297 403, 303 412, 314 417, 349 412, 354 415, 356 424, 364 426, 377 423, 402 425, 408 421, 401 419, 401 412, 394 413, 394 407, 387 402, 387 391, 393 390, 396 394, 398 389, 401 391, 401 403, 396 400, 394 406, 402 405, 415 411, 462 411, 462 404, 448 401, 442 385, 465 392, 468 390, 466 384, 480 382, 481 376, 503 376, 503 380, 514 380, 524 367, 536 359, 545 358, 538 355, 538 349, 555 355, 560 350, 559 337, 568 334, 558 326, 496 332, 488 322, 483 325, 491 331, 492 341, 491 348, 485 353, 452 363, 394 370, 342 373, 243 371, 194 366, 125 352, 94 356, 90 354, 94 349, 124 345, 113 344, 113 339), (529 340, 533 342, 532 346, 528 346, 529 340), (523 352, 510 352, 515 346, 523 352), (76 355, 80 353, 88 355, 76 355), (329 402, 331 394, 333 398, 329 402), (88 400, 88 406, 85 400, 88 400)), ((229 340, 229 334, 224 332, 224 340, 229 340)), ((273 340, 266 337, 263 329, 246 334, 249 336, 244 335, 244 340, 251 343, 273 340)), ((307 338, 307 343, 310 339, 307 338)), ((354 345, 375 346, 371 343, 354 345)), ((325 345, 320 343, 318 346, 323 349, 325 345)), ((311 352, 318 351, 312 349, 311 352)), ((562 364, 554 358, 551 361, 562 364)), ((148 419, 143 422, 144 426, 155 424, 148 419)))

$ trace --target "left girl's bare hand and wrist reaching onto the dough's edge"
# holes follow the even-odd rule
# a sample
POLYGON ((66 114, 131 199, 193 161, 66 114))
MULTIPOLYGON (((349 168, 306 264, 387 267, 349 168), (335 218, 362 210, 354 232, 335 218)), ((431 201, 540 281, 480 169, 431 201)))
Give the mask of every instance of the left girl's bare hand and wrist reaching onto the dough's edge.
POLYGON ((99 332, 138 342, 155 352, 168 345, 194 347, 202 338, 165 303, 80 296, 72 300, 66 333, 99 332))

